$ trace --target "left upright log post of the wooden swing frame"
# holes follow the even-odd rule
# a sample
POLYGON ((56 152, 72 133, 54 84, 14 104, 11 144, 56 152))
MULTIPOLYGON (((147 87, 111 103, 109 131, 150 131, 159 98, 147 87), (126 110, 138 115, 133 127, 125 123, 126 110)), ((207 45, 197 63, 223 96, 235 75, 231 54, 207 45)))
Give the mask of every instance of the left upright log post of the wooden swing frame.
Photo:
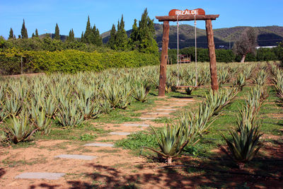
POLYGON ((169 21, 164 21, 158 96, 165 96, 168 43, 169 43, 169 21))

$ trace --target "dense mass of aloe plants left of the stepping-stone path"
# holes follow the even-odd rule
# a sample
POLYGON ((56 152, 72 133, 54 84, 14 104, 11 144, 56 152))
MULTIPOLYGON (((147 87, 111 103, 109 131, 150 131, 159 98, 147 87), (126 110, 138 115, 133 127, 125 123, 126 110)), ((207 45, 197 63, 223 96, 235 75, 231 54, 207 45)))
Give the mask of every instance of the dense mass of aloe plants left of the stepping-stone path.
POLYGON ((35 132, 48 134, 54 120, 62 127, 75 127, 115 108, 125 109, 132 101, 145 102, 151 87, 149 72, 153 71, 111 69, 98 74, 3 79, 0 81, 1 140, 22 142, 35 132))

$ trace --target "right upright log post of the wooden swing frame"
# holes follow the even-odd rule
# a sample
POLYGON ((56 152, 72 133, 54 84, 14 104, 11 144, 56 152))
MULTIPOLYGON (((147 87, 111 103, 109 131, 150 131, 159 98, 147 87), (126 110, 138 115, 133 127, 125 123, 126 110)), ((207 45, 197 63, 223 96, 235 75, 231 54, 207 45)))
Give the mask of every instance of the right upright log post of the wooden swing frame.
POLYGON ((210 76, 212 79, 212 90, 218 91, 218 81, 217 81, 217 68, 216 68, 216 55, 214 47, 214 38, 212 30, 212 20, 205 21, 205 28, 207 29, 207 42, 209 50, 209 67, 210 67, 210 76))

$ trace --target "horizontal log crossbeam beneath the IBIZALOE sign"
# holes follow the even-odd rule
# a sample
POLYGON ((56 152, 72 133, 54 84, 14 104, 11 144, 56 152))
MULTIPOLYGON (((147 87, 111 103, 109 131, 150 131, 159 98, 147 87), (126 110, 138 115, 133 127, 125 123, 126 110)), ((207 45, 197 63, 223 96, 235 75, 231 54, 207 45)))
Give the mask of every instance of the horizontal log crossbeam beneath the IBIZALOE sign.
MULTIPOLYGON (((205 20, 216 20, 219 17, 219 14, 210 14, 210 15, 180 15, 178 16, 178 21, 205 21, 205 20)), ((156 16, 155 17, 159 22, 163 21, 177 21, 177 16, 156 16)))

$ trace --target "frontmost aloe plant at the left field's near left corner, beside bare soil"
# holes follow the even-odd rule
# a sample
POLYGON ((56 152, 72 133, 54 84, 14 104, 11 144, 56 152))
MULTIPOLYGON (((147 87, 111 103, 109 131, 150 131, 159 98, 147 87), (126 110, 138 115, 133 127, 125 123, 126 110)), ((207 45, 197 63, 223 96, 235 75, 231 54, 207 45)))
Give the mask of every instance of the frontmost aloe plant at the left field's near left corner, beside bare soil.
POLYGON ((18 142, 24 142, 33 136, 36 129, 33 128, 33 124, 29 121, 29 115, 26 111, 23 111, 18 118, 12 115, 11 124, 6 124, 5 129, 10 135, 11 142, 17 144, 18 142))

